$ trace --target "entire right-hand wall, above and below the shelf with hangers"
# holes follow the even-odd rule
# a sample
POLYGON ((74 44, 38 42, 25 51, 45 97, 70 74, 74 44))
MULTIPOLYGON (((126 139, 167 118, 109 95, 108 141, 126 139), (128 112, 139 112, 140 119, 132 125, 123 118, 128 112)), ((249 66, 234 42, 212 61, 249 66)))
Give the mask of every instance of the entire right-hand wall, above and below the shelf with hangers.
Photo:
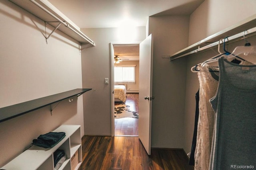
MULTIPOLYGON (((190 16, 189 44, 196 43, 256 14, 255 9, 255 0, 205 0, 190 16)), ((256 44, 255 38, 248 38, 248 40, 252 45, 256 44)), ((237 45, 244 45, 244 43, 244 40, 232 43, 228 45, 228 51, 232 52, 237 45)), ((184 150, 187 153, 190 152, 192 144, 196 105, 195 94, 199 88, 197 74, 191 72, 190 68, 215 56, 216 53, 207 51, 188 57, 184 115, 184 150)))

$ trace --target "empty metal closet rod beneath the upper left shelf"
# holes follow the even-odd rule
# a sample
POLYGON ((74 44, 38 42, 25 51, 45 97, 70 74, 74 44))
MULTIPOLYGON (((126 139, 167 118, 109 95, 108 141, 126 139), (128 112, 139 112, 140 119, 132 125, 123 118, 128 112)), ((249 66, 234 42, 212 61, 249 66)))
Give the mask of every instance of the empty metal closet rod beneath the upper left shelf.
POLYGON ((52 14, 50 11, 48 11, 46 8, 44 8, 42 5, 40 5, 38 2, 36 2, 35 0, 30 0, 31 2, 33 2, 36 6, 38 6, 39 8, 41 8, 42 10, 44 10, 45 12, 47 12, 50 16, 52 16, 53 18, 55 18, 56 20, 58 20, 60 23, 62 23, 63 25, 65 25, 66 27, 68 27, 69 29, 71 29, 74 33, 76 33, 77 35, 79 35, 80 37, 82 37, 83 39, 85 39, 86 41, 88 41, 90 44, 95 46, 95 43, 88 38, 86 35, 84 35, 82 32, 78 32, 75 29, 73 29, 72 27, 69 26, 69 24, 67 24, 65 21, 60 20, 58 17, 56 17, 54 14, 52 14))

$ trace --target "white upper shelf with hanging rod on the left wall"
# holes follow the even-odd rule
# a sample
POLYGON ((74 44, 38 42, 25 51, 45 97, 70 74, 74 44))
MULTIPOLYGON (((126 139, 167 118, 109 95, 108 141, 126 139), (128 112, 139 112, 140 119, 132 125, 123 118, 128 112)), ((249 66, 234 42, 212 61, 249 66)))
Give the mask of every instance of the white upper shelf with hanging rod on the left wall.
POLYGON ((66 17, 62 12, 60 12, 55 6, 53 6, 48 0, 10 0, 17 6, 20 6, 24 10, 30 12, 34 16, 40 18, 41 20, 47 22, 53 27, 57 27, 57 21, 62 24, 58 27, 58 30, 62 31, 66 35, 72 37, 80 43, 88 43, 95 46, 95 43, 88 38, 84 33, 80 31, 80 28, 73 23, 68 17, 66 17), (38 5, 36 5, 38 4, 38 5), (41 6, 41 7, 39 7, 41 6), (43 8, 45 10, 43 10, 43 8), (49 14, 48 12, 51 14, 49 14), (52 15, 53 14, 53 15, 52 15))

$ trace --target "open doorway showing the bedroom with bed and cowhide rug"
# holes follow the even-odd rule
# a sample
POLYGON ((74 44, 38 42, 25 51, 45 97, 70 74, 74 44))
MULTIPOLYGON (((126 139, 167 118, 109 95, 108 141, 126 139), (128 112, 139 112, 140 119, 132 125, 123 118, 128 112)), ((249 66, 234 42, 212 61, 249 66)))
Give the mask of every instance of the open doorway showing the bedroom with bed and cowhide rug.
POLYGON ((139 43, 111 43, 112 132, 114 136, 138 136, 139 43))

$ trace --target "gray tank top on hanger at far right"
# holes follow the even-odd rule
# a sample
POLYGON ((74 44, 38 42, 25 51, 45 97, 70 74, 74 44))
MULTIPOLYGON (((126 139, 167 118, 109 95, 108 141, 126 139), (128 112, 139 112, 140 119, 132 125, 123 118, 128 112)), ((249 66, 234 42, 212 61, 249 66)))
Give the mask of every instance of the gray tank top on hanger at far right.
POLYGON ((210 100, 216 113, 210 170, 256 168, 256 65, 219 59, 220 79, 210 100))

